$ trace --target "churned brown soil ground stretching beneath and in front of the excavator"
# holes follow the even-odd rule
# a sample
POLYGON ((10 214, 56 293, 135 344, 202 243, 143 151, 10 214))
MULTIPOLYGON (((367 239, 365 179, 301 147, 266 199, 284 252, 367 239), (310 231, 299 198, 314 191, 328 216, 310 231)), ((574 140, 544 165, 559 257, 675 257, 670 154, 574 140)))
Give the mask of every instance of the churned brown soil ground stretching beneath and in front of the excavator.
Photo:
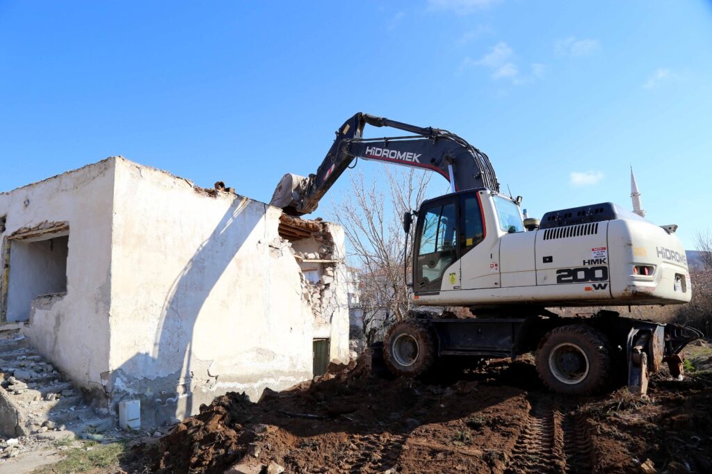
POLYGON ((256 404, 221 396, 90 472, 708 473, 712 347, 686 354, 686 379, 656 374, 645 399, 550 394, 529 357, 426 381, 333 367, 256 404))

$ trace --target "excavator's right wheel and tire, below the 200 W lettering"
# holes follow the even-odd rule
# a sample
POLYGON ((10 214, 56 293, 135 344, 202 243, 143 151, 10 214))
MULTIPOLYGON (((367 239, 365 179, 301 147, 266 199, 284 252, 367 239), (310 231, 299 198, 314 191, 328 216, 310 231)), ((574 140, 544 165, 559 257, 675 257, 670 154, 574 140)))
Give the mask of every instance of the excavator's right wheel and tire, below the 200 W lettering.
POLYGON ((536 369, 552 391, 567 395, 595 393, 610 379, 610 342, 587 325, 557 327, 540 341, 536 369))

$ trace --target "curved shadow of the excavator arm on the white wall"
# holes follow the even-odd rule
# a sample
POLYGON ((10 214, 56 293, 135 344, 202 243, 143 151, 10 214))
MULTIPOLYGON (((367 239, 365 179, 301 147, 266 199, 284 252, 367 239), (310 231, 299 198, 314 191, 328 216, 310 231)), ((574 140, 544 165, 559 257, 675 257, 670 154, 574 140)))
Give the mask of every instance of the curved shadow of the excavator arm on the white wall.
MULTIPOLYGON (((201 243, 174 280, 164 300, 151 354, 136 354, 112 372, 110 389, 119 392, 114 396, 121 395, 121 391, 127 398, 140 396, 142 424, 157 426, 170 421, 179 402, 176 387, 184 386, 184 390, 179 389, 179 395, 181 391, 186 394, 191 391, 193 337, 198 315, 211 290, 264 215, 244 212, 248 202, 245 198, 233 201, 209 238, 201 243), (137 369, 150 374, 172 371, 173 367, 181 367, 175 369, 179 375, 152 380, 131 376, 137 369)), ((181 400, 185 401, 185 412, 192 413, 193 397, 184 396, 181 400)))

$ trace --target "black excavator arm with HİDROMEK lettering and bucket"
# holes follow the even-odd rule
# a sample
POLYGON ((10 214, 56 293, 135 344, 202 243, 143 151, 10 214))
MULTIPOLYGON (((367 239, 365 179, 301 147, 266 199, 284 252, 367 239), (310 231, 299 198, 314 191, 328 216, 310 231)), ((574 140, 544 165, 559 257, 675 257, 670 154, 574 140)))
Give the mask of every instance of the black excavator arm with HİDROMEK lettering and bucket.
POLYGON ((499 191, 487 155, 454 133, 359 112, 337 130, 336 139, 316 174, 306 178, 286 174, 278 184, 271 204, 289 214, 310 214, 357 158, 429 169, 448 179, 456 191, 479 187, 499 191), (414 135, 363 138, 365 125, 391 127, 414 135))

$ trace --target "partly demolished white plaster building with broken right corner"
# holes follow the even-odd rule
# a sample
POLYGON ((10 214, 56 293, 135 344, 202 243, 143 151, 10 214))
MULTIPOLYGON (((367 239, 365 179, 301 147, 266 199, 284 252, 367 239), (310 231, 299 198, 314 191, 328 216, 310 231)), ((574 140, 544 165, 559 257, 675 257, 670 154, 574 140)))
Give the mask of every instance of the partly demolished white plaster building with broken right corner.
MULTIPOLYGON (((0 194, 0 318, 142 424, 347 362, 342 228, 122 157, 0 194)), ((1 388, 0 388, 1 390, 1 388)))

